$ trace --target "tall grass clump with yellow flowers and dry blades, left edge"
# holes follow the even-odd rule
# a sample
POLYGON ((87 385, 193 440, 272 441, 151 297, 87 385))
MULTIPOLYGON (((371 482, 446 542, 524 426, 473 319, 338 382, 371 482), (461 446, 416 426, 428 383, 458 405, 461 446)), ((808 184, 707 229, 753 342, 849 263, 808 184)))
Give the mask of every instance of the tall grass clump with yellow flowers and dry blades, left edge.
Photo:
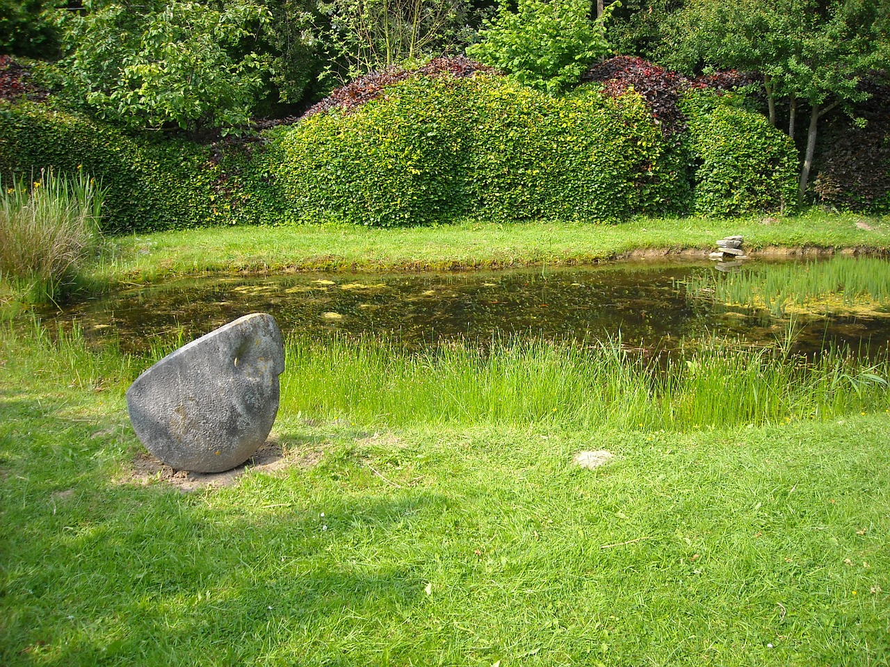
POLYGON ((96 252, 104 190, 82 171, 0 183, 0 276, 53 299, 96 252))

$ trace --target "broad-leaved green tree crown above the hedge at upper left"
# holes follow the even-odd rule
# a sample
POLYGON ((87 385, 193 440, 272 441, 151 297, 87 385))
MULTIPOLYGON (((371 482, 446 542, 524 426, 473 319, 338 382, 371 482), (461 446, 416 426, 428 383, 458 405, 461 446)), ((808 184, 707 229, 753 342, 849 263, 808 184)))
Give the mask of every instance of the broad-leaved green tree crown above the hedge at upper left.
POLYGON ((131 128, 178 126, 223 134, 247 124, 266 59, 244 43, 269 20, 250 2, 85 3, 66 28, 69 92, 131 128))

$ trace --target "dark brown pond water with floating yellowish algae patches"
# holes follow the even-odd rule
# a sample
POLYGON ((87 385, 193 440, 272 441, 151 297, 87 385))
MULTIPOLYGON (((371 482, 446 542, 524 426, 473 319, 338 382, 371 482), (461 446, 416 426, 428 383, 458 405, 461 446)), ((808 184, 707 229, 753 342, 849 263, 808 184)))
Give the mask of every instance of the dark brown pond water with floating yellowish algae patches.
MULTIPOLYGON (((745 270, 760 275, 770 266, 752 263, 745 270)), ((885 269, 890 277, 886 261, 871 266, 868 275, 885 269)), ((206 277, 107 294, 43 315, 66 326, 77 321, 88 340, 113 336, 131 351, 146 350, 179 329, 190 340, 257 311, 271 313, 285 333, 372 333, 418 348, 456 337, 484 344, 494 335, 513 334, 603 339, 620 333, 629 346, 668 349, 681 339, 715 334, 758 344, 782 339, 789 316, 718 302, 712 287, 727 279, 708 262, 457 274, 206 277)), ((797 351, 833 344, 886 350, 887 299, 865 298, 863 305, 860 298, 839 312, 831 311, 837 298, 822 294, 813 301, 812 312, 804 308, 795 317, 797 351)))

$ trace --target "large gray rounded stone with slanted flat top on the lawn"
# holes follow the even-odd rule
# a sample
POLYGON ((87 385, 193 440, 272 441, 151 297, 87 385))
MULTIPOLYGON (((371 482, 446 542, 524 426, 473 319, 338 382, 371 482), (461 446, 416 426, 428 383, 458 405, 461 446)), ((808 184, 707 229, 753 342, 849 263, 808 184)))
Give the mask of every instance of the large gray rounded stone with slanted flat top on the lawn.
POLYGON ((176 470, 221 472, 263 445, 279 406, 281 332, 241 317, 158 361, 126 390, 142 444, 176 470))

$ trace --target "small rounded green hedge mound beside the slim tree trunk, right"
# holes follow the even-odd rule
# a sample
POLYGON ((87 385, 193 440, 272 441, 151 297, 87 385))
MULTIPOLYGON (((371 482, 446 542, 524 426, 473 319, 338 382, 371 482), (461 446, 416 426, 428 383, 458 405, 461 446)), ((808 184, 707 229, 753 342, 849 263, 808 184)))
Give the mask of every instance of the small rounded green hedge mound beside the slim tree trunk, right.
POLYGON ((793 208, 797 154, 765 117, 707 92, 687 95, 681 108, 694 161, 694 210, 738 215, 793 208))

